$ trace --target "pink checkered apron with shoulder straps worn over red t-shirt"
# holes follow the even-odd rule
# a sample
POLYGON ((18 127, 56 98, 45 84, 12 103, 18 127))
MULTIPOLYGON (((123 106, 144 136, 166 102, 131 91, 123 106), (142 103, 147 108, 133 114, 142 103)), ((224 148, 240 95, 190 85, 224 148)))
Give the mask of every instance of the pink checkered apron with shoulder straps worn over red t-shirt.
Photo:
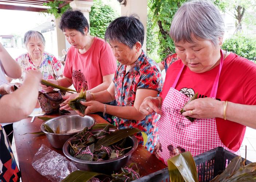
MULTIPOLYGON (((220 70, 210 93, 213 99, 216 98, 222 64, 223 51, 221 50, 220 70)), ((239 150, 232 151, 221 142, 215 118, 195 119, 194 122, 190 122, 180 113, 181 108, 189 100, 187 96, 175 89, 184 67, 185 65, 182 66, 162 104, 162 115, 157 124, 159 141, 155 147, 155 155, 166 163, 167 159, 184 151, 190 151, 193 156, 196 156, 218 146, 240 155, 239 150)))

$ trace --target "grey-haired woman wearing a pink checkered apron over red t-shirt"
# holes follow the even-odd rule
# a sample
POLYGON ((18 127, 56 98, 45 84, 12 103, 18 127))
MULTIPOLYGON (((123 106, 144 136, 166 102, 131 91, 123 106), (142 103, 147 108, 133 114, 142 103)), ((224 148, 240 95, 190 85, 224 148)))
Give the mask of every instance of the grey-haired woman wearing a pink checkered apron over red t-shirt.
POLYGON ((218 146, 239 154, 246 126, 256 128, 256 64, 221 50, 223 35, 224 21, 210 1, 184 3, 173 18, 170 36, 180 59, 168 68, 160 96, 140 107, 144 115, 161 114, 155 154, 165 162, 218 146))

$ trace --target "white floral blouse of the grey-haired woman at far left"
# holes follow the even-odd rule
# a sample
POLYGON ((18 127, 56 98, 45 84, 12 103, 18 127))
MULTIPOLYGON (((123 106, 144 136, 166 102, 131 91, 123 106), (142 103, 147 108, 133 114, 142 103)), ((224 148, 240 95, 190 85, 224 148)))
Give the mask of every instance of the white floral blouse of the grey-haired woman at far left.
POLYGON ((20 81, 23 81, 25 71, 28 70, 38 70, 43 74, 44 80, 57 80, 62 75, 64 66, 55 58, 47 52, 43 53, 43 60, 39 66, 31 61, 29 54, 25 53, 16 58, 16 61, 20 64, 22 75, 20 81))

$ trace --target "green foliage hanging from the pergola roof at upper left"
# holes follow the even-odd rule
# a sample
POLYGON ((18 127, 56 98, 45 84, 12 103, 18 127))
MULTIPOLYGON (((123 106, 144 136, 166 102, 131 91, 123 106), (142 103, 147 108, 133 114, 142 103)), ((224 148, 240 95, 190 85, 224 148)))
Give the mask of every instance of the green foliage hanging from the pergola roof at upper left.
POLYGON ((49 3, 43 3, 44 6, 48 6, 46 10, 47 13, 54 15, 55 18, 61 17, 64 12, 66 12, 68 9, 71 9, 70 5, 67 4, 64 7, 59 9, 59 5, 64 3, 64 1, 49 1, 49 3))

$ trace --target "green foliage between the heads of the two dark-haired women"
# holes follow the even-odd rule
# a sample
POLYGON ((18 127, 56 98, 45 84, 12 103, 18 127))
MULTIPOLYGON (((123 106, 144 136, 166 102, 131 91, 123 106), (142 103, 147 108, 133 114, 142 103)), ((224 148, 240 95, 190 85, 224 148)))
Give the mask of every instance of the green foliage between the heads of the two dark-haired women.
POLYGON ((117 17, 117 13, 102 0, 94 0, 90 12, 90 35, 104 39, 107 26, 117 17))

